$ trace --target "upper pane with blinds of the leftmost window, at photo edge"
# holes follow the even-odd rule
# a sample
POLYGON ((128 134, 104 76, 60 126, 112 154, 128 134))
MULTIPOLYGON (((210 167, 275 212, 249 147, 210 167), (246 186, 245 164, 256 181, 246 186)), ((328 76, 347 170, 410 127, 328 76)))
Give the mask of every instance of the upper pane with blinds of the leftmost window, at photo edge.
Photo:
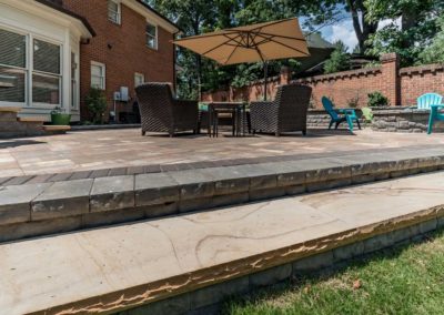
POLYGON ((0 64, 26 68, 27 38, 0 30, 0 64))

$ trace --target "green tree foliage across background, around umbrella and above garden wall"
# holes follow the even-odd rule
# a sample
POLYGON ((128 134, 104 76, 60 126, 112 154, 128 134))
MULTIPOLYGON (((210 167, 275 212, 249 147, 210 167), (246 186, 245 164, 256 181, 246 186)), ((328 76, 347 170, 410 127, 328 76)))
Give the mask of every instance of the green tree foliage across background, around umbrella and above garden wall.
MULTIPOLYGON (((443 61, 444 0, 144 0, 175 21, 183 35, 219 29, 303 17, 304 27, 317 31, 351 19, 357 38, 355 52, 379 57, 397 52, 403 65, 443 61), (381 22, 384 27, 379 29, 381 22), (387 22, 392 21, 392 22, 387 22), (441 22, 440 22, 441 21, 441 22), (440 28, 441 27, 441 28, 440 28), (441 33, 438 33, 441 29, 441 33)), ((178 54, 179 93, 198 98, 201 91, 243 87, 263 78, 261 63, 220 67, 188 50, 178 54)), ((273 61, 270 75, 281 65, 296 69, 295 60, 273 61)), ((350 68, 350 55, 341 44, 325 65, 327 72, 350 68)))

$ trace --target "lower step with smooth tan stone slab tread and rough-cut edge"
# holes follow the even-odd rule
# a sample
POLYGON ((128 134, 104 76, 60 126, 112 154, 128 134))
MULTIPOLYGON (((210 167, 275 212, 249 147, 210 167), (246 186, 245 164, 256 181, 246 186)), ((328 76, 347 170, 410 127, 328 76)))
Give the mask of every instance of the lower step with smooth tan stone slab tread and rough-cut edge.
POLYGON ((444 226, 443 182, 441 172, 1 244, 0 309, 213 314, 228 296, 444 226))

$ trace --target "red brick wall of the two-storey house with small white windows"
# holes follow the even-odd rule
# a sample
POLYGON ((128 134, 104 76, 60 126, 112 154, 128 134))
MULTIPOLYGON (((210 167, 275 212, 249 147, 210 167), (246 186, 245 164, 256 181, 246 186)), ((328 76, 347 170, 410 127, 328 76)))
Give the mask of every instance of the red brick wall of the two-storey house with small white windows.
MULTIPOLYGON (((88 119, 88 110, 83 103, 91 87, 91 61, 105 64, 105 88, 109 100, 109 111, 113 109, 113 93, 120 87, 128 87, 132 100, 134 92, 134 73, 143 73, 145 81, 174 82, 173 54, 174 48, 170 42, 173 34, 158 28, 158 50, 145 44, 144 17, 121 7, 121 24, 108 21, 107 0, 63 0, 67 9, 88 19, 97 37, 80 49, 80 99, 82 119, 88 119)), ((132 111, 132 100, 118 103, 119 111, 132 111)), ((109 112, 105 113, 108 119, 109 112)))

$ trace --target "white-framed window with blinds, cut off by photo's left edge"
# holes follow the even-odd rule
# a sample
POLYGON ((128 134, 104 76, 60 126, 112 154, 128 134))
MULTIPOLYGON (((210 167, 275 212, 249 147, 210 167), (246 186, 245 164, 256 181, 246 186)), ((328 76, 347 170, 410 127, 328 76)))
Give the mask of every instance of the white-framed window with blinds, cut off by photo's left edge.
POLYGON ((27 35, 0 29, 0 102, 26 103, 27 35))

